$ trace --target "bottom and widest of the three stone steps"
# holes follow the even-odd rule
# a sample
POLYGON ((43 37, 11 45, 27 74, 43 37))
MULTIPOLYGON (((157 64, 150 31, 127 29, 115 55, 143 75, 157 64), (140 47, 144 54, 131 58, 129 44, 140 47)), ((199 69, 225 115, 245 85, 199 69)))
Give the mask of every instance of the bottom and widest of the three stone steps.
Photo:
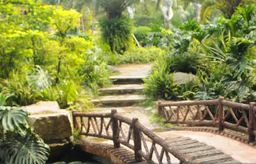
POLYGON ((101 99, 92 100, 92 103, 101 106, 129 106, 146 100, 146 97, 140 94, 123 94, 115 96, 102 96, 101 99))

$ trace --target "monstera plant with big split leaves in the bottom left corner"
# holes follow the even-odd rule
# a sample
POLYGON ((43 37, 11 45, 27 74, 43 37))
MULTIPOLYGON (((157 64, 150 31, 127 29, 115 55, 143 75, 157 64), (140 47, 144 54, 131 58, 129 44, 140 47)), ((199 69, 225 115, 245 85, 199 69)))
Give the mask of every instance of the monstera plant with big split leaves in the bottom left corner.
POLYGON ((48 159, 50 148, 28 127, 27 117, 25 109, 0 106, 2 162, 45 163, 48 159))

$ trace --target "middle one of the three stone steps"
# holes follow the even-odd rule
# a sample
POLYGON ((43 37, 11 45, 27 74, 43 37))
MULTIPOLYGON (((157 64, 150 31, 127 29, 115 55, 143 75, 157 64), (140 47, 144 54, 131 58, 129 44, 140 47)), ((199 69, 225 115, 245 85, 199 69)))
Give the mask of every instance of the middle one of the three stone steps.
POLYGON ((141 94, 145 87, 140 84, 114 85, 113 87, 101 88, 101 94, 141 94))

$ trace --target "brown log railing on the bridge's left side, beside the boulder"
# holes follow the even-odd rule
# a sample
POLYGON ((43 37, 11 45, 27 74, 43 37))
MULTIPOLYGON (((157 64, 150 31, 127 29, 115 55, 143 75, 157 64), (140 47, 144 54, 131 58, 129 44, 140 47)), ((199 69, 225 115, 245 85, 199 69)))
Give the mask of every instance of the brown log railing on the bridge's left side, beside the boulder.
MULTIPOLYGON (((164 141, 163 139, 161 139, 161 137, 158 137, 157 135, 155 135, 155 133, 153 133, 151 130, 147 129, 147 127, 143 126, 140 122, 138 122, 138 119, 129 119, 128 117, 124 117, 121 114, 118 114, 116 112, 116 110, 112 110, 111 113, 102 113, 102 114, 79 113, 76 111, 72 111, 72 115, 73 115, 73 120, 74 120, 74 126, 79 127, 80 135, 102 137, 104 139, 113 140, 114 147, 116 147, 116 148, 120 147, 120 144, 127 146, 130 149, 134 150, 135 160, 137 162, 141 162, 142 158, 147 160, 147 162, 149 162, 149 163, 158 163, 159 162, 159 161, 154 162, 152 159, 152 156, 150 158, 150 155, 147 155, 147 153, 144 153, 142 151, 142 139, 141 139, 141 133, 142 133, 145 136, 147 136, 149 139, 151 139, 153 143, 160 145, 168 153, 171 153, 173 156, 175 156, 177 159, 179 159, 181 163, 189 163, 189 159, 187 159, 186 156, 184 156, 182 152, 180 152, 179 150, 175 149, 174 147, 171 147, 170 145, 168 145, 168 143, 166 141, 164 141), (89 125, 89 122, 91 122, 91 123, 93 122, 92 117, 94 117, 94 118, 98 117, 101 119, 111 118, 109 123, 112 123, 112 135, 105 136, 103 134, 96 133, 96 130, 94 130, 95 133, 90 133, 89 132, 90 130, 86 129, 85 123, 82 123, 83 117, 88 117, 88 119, 89 119, 88 125, 89 125), (79 124, 79 120, 77 120, 78 118, 80 118, 80 122, 81 122, 80 124, 79 124), (134 145, 131 145, 129 142, 124 142, 122 139, 119 138, 120 130, 118 130, 118 126, 119 126, 118 122, 126 123, 126 124, 128 124, 128 126, 131 127, 132 133, 133 133, 134 145), (85 127, 86 132, 82 132, 83 126, 85 127)), ((101 120, 101 122, 102 122, 102 120, 101 120)), ((98 126, 98 125, 96 125, 96 126, 98 126)), ((101 127, 102 126, 103 125, 101 125, 101 127)), ((90 128, 90 126, 87 128, 90 128)), ((94 129, 96 129, 96 127, 94 129)), ((100 127, 97 127, 97 129, 100 129, 100 127)), ((151 147, 151 149, 152 149, 152 147, 151 147)), ((160 160, 160 159, 158 159, 158 160, 160 160)), ((169 162, 167 162, 167 163, 169 163, 169 162)))

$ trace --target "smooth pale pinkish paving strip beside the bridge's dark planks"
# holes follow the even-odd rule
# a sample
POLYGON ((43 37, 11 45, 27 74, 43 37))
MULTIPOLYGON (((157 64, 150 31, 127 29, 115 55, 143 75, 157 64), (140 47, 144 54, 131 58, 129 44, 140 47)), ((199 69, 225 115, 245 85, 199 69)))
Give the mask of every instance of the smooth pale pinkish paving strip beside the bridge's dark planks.
POLYGON ((215 135, 208 132, 191 132, 191 131, 169 131, 157 133, 158 136, 167 137, 170 135, 179 135, 190 137, 204 142, 207 145, 214 146, 216 149, 222 150, 223 153, 231 155, 232 158, 243 163, 256 163, 256 149, 245 143, 238 142, 225 136, 215 135))

